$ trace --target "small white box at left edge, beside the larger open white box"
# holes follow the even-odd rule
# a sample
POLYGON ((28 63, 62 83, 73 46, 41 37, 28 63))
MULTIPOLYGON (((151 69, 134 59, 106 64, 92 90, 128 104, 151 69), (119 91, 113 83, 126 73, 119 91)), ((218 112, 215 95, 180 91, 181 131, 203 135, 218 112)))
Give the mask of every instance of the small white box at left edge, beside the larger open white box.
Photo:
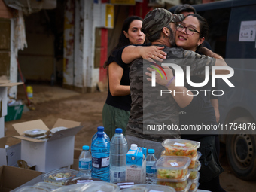
POLYGON ((0 166, 17 166, 17 161, 20 160, 21 144, 5 148, 8 137, 0 138, 0 166))

